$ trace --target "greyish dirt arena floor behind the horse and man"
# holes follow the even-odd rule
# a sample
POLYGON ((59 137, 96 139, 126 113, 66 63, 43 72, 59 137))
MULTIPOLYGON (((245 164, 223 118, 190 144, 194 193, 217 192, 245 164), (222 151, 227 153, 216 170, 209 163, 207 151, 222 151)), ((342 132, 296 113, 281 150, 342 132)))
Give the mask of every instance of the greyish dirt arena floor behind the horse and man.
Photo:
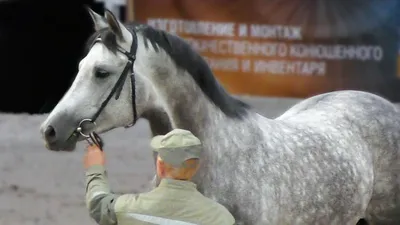
MULTIPOLYGON (((299 101, 241 98, 270 118, 299 101)), ((0 225, 95 225, 84 203, 84 143, 72 153, 46 150, 39 134, 46 116, 0 114, 0 225)), ((147 121, 102 137, 113 191, 144 190, 154 174, 147 121)))

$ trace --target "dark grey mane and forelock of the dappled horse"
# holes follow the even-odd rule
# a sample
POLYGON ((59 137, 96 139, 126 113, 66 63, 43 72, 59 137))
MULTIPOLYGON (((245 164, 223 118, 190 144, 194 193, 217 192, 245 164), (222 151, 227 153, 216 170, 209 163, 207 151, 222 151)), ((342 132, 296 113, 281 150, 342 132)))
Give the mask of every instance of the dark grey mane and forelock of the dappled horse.
MULTIPOLYGON (((207 62, 184 39, 137 22, 131 22, 125 24, 125 26, 131 32, 139 32, 143 35, 146 39, 146 48, 148 48, 149 43, 157 52, 159 47, 163 48, 178 67, 186 70, 193 77, 203 93, 225 115, 232 118, 242 118, 247 113, 250 106, 225 91, 214 77, 207 62)), ((102 43, 107 49, 116 52, 117 38, 115 34, 109 28, 103 28, 89 37, 85 47, 86 53, 89 52, 97 38, 102 39, 102 43)))

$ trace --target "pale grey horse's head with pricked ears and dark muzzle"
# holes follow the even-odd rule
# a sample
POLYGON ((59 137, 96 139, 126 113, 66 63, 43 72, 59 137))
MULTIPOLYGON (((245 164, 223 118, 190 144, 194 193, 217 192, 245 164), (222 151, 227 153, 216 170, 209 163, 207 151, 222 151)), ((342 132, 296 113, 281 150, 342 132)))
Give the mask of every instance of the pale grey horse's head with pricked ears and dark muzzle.
POLYGON ((71 87, 40 127, 50 150, 74 150, 84 138, 77 132, 84 119, 95 120, 81 124, 84 134, 103 133, 136 122, 155 101, 145 77, 135 73, 131 82, 129 63, 135 61, 136 38, 110 11, 105 17, 88 11, 96 30, 89 38, 88 53, 71 87))

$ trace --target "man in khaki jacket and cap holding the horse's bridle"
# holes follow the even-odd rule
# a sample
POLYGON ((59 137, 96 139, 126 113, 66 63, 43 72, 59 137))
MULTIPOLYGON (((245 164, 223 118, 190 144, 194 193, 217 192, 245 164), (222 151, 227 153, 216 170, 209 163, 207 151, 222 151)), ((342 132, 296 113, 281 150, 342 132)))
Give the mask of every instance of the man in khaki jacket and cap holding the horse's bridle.
POLYGON ((104 153, 89 146, 85 155, 86 206, 100 225, 176 224, 233 225, 232 214, 206 198, 191 178, 199 169, 202 144, 190 131, 174 129, 155 136, 151 148, 157 153, 160 183, 147 193, 111 193, 104 153))

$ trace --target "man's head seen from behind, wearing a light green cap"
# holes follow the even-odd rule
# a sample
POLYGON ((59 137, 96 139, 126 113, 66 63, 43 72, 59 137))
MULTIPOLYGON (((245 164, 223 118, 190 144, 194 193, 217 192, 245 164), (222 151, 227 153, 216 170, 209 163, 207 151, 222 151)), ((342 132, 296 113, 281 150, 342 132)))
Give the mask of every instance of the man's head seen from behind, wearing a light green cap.
POLYGON ((155 136, 150 145, 158 153, 160 178, 190 180, 197 172, 202 144, 190 131, 174 129, 166 135, 155 136))

